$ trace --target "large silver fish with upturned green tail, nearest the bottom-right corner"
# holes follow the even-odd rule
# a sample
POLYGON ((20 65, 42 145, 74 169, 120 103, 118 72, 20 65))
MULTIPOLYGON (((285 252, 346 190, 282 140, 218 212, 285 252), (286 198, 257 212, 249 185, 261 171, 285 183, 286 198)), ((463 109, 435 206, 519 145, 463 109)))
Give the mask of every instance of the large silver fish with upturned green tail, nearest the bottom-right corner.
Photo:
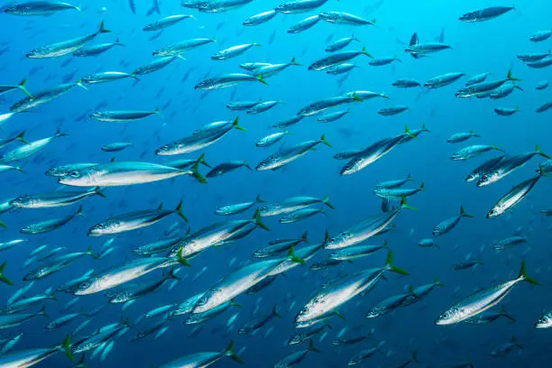
POLYGON ((539 285, 538 281, 532 279, 527 274, 525 261, 521 262, 520 274, 516 279, 476 291, 474 294, 456 303, 453 307, 446 309, 445 312, 437 317, 435 323, 439 326, 453 325, 475 317, 500 303, 520 281, 539 285))

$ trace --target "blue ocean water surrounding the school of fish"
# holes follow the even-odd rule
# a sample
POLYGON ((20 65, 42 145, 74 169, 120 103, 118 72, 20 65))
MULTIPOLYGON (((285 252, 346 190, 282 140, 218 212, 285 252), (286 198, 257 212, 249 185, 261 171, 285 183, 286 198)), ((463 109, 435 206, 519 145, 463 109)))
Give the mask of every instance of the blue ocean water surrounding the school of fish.
MULTIPOLYGON (((395 228, 379 237, 373 237, 364 244, 382 244, 387 241, 394 254, 395 263, 409 272, 409 276, 388 274, 386 281, 378 285, 366 296, 356 296, 345 303, 339 312, 344 319, 334 317, 329 320, 333 327, 320 341, 320 335, 313 338, 320 353, 309 353, 300 366, 340 367, 359 351, 382 345, 382 352, 363 361, 361 366, 400 366, 409 359, 413 351, 418 351, 420 363, 411 366, 445 366, 446 363, 471 361, 476 367, 547 367, 550 331, 536 329, 535 322, 543 312, 552 308, 552 294, 548 260, 551 225, 549 218, 540 211, 552 206, 549 191, 550 179, 540 179, 519 206, 494 219, 485 218, 488 210, 514 185, 536 175, 538 162, 544 158, 534 158, 505 179, 492 186, 476 188, 474 183, 466 183, 465 176, 484 160, 495 157, 498 152, 485 153, 483 158, 467 162, 451 161, 450 155, 470 144, 496 144, 508 153, 530 152, 540 144, 544 152, 552 152, 550 136, 550 112, 536 113, 538 106, 552 101, 550 89, 537 90, 541 80, 549 78, 550 68, 530 69, 517 58, 520 53, 546 52, 552 40, 531 42, 529 36, 550 27, 552 5, 545 1, 518 1, 516 9, 496 19, 481 23, 464 23, 458 20, 462 14, 475 9, 496 5, 489 1, 466 0, 463 2, 442 1, 335 1, 305 14, 277 14, 270 22, 253 27, 242 23, 253 14, 275 8, 281 2, 276 0, 254 0, 248 5, 221 14, 207 14, 194 9, 183 8, 178 1, 161 1, 161 15, 146 13, 152 7, 149 0, 135 0, 135 14, 128 1, 82 1, 82 14, 64 11, 51 16, 14 16, 1 14, 0 84, 14 85, 27 78, 31 93, 54 87, 62 83, 72 83, 78 78, 100 71, 132 72, 133 69, 150 62, 152 51, 164 45, 194 39, 212 38, 217 41, 184 54, 186 60, 174 60, 164 69, 132 78, 88 85, 88 90, 75 87, 63 97, 55 99, 28 113, 16 114, 3 124, 2 136, 26 131, 28 140, 35 141, 51 136, 60 129, 68 133, 49 144, 43 151, 31 158, 17 162, 26 173, 3 172, 1 198, 15 198, 23 194, 50 192, 60 188, 55 178, 44 175, 51 166, 73 162, 115 161, 162 162, 168 159, 196 159, 201 153, 211 165, 224 161, 244 160, 253 170, 244 168, 221 177, 208 179, 207 184, 198 183, 188 176, 162 180, 151 184, 115 187, 106 189, 106 198, 97 196, 80 202, 86 216, 73 219, 51 233, 43 235, 22 235, 19 230, 48 218, 74 213, 78 205, 52 209, 18 209, 3 214, 0 219, 8 227, 2 231, 3 242, 14 238, 28 239, 27 243, 0 253, 0 261, 7 262, 5 275, 15 285, 0 285, 2 304, 15 290, 22 288, 27 270, 22 270, 23 262, 33 249, 49 244, 48 249, 63 246, 67 252, 84 252, 88 246, 94 251, 101 248, 109 236, 88 237, 87 230, 110 216, 118 216, 132 211, 152 209, 163 203, 165 207, 176 207, 183 200, 183 212, 189 223, 178 216, 170 216, 156 225, 115 237, 115 252, 102 260, 89 257, 79 259, 67 269, 36 281, 25 296, 41 293, 49 287, 76 278, 88 270, 105 270, 121 265, 134 258, 132 249, 138 245, 166 238, 170 225, 178 223, 179 236, 185 235, 188 228, 197 231, 207 225, 230 219, 249 219, 253 209, 232 217, 216 216, 217 207, 252 201, 260 195, 268 202, 279 202, 295 196, 328 196, 336 209, 320 205, 325 216, 317 215, 295 224, 280 224, 278 217, 264 217, 271 231, 256 229, 251 235, 234 243, 208 249, 190 260, 192 267, 180 267, 182 280, 173 289, 163 285, 160 290, 138 299, 132 306, 122 310, 121 304, 109 304, 105 293, 81 297, 71 308, 73 311, 90 311, 105 305, 101 313, 73 341, 79 337, 95 333, 99 327, 128 317, 131 321, 152 308, 170 303, 180 303, 190 297, 205 292, 217 281, 240 266, 253 262, 254 250, 267 245, 277 238, 295 238, 308 232, 311 244, 323 241, 324 233, 337 235, 348 227, 358 224, 382 212, 382 199, 373 195, 377 183, 390 179, 402 179, 408 174, 417 181, 407 184, 408 188, 425 183, 427 190, 409 198, 409 204, 418 211, 401 211, 395 219, 395 228), (290 34, 288 28, 312 14, 338 11, 356 14, 366 19, 375 19, 374 25, 352 26, 320 21, 308 31, 290 34), (155 40, 150 40, 156 32, 143 32, 143 25, 162 16, 171 14, 194 14, 196 20, 185 20, 161 32, 155 40), (38 46, 57 41, 69 40, 95 32, 99 23, 105 21, 111 33, 99 34, 91 44, 115 41, 118 37, 124 47, 115 47, 97 57, 76 58, 71 55, 53 59, 28 59, 25 55, 38 46), (414 59, 404 52, 413 32, 419 40, 434 41, 444 32, 444 41, 451 50, 439 51, 426 58, 414 59), (327 56, 325 48, 331 41, 354 36, 354 41, 346 50, 360 50, 363 46, 374 57, 391 57, 400 60, 382 67, 368 65, 368 58, 361 55, 354 60, 355 68, 344 76, 327 75, 324 71, 310 71, 308 65, 327 56), (236 44, 259 42, 262 47, 253 47, 243 55, 230 60, 211 60, 210 56, 236 44), (279 75, 266 78, 262 83, 244 83, 236 87, 204 92, 194 86, 205 78, 229 72, 242 72, 238 67, 244 62, 283 63, 295 57, 302 66, 292 66, 279 75), (504 78, 511 69, 513 76, 522 79, 518 85, 523 90, 515 90, 511 96, 492 100, 488 98, 457 98, 455 92, 464 87, 465 80, 475 74, 489 72, 488 80, 504 78), (391 83, 400 78, 413 78, 422 84, 429 78, 449 72, 463 72, 465 77, 451 86, 428 90, 423 87, 396 88, 391 83), (390 97, 373 98, 363 103, 346 104, 334 111, 350 108, 350 114, 329 124, 317 122, 317 117, 305 117, 299 124, 289 127, 290 135, 283 143, 271 148, 255 146, 263 136, 277 130, 271 125, 281 122, 304 106, 327 97, 336 97, 354 90, 384 92, 390 97), (225 105, 233 101, 281 100, 285 104, 274 107, 260 115, 247 115, 245 112, 229 111, 225 105), (394 105, 409 106, 409 110, 394 116, 378 115, 384 107, 394 105), (520 107, 512 116, 499 116, 495 107, 520 107), (143 120, 115 124, 98 122, 88 115, 97 110, 148 110, 159 108, 161 115, 152 115, 143 120), (221 120, 240 117, 240 124, 246 131, 233 130, 221 141, 205 150, 182 156, 163 158, 155 155, 155 150, 165 143, 188 136, 200 126, 221 120), (378 140, 393 137, 404 132, 405 125, 410 130, 426 124, 430 133, 421 133, 418 139, 400 144, 380 161, 354 175, 340 176, 339 170, 346 161, 336 161, 336 152, 362 149, 378 140), (465 143, 446 143, 453 133, 474 130, 481 138, 473 138, 465 143), (255 166, 279 147, 290 147, 295 143, 317 140, 323 133, 332 147, 318 145, 316 150, 298 161, 291 162, 281 170, 258 171, 255 166), (100 147, 107 143, 129 142, 133 146, 122 152, 102 152, 100 147), (435 239, 439 248, 419 247, 419 240, 432 237, 432 229, 447 217, 456 216, 463 205, 474 219, 463 218, 460 224, 447 235, 435 239), (504 252, 496 252, 492 244, 518 234, 527 238, 528 244, 513 247, 504 252), (466 271, 453 271, 451 267, 466 258, 483 260, 483 264, 466 271), (234 261, 233 261, 234 260, 234 261), (460 299, 492 284, 515 279, 520 262, 525 260, 529 275, 541 282, 532 286, 521 282, 501 301, 496 310, 504 306, 515 323, 500 318, 492 324, 473 326, 456 324, 437 326, 436 318, 460 299), (197 281, 194 275, 207 267, 207 271, 197 281), (382 299, 404 292, 409 285, 419 286, 434 281, 442 281, 446 287, 436 288, 427 298, 407 308, 398 308, 390 314, 366 318, 365 313, 382 299), (332 345, 340 331, 346 328, 345 336, 368 334, 370 339, 351 346, 332 345), (514 349, 504 357, 490 356, 492 350, 508 343, 515 336, 523 346, 518 353, 514 349)), ((0 98, 0 114, 9 112, 10 106, 23 98, 23 93, 13 91, 0 98)), ((13 149, 20 143, 5 147, 13 149)), ((552 153, 551 153, 552 154, 552 153)), ((200 168, 205 174, 206 168, 200 168)), ((398 202, 394 202, 398 206, 398 202)), ((301 245, 302 246, 302 245, 301 245)), ((299 246, 300 247, 300 246, 299 246)), ((327 258, 330 251, 322 250, 308 262, 319 262, 327 258)), ((385 252, 379 251, 368 257, 343 262, 327 271, 311 271, 302 265, 279 276, 274 283, 258 294, 240 295, 236 302, 241 308, 230 308, 225 313, 210 320, 197 335, 190 336, 193 326, 183 324, 182 317, 170 318, 166 326, 169 330, 156 341, 147 336, 138 342, 129 342, 136 333, 143 330, 151 320, 142 320, 130 328, 124 336, 115 340, 110 354, 102 362, 98 357, 90 359, 87 353, 87 366, 133 366, 152 367, 169 363, 180 356, 198 352, 216 352, 235 341, 236 353, 240 354, 244 367, 271 367, 285 356, 306 349, 308 342, 299 346, 289 346, 288 340, 297 329, 294 318, 299 310, 321 290, 325 281, 337 276, 352 275, 354 272, 382 266, 385 252), (258 310, 255 312, 255 306, 258 310), (270 313, 277 305, 281 318, 275 318, 262 327, 254 336, 241 336, 237 330, 252 317, 270 313), (227 327, 228 318, 239 312, 232 329, 227 327), (273 328, 267 336, 269 328, 273 328)), ((37 263, 33 263, 35 266, 37 263)), ((154 271, 133 282, 159 280, 162 271, 154 271)), ((63 306, 72 299, 69 294, 59 293, 58 301, 50 300, 47 310, 51 319, 67 314, 63 306)), ((41 304, 29 311, 36 311, 41 304)), ((494 309, 492 309, 494 310, 494 309)), ((159 318, 159 317, 158 317, 159 318)), ((157 321, 158 319, 155 319, 157 321)), ((58 345, 64 337, 82 321, 72 322, 67 327, 47 331, 48 320, 32 318, 29 322, 10 329, 4 329, 2 337, 23 332, 21 341, 12 352, 34 347, 58 345)), ((77 356, 79 358, 79 356, 77 356)), ((63 354, 55 354, 40 363, 43 367, 64 367, 72 363, 63 354)), ((238 363, 224 358, 215 366, 232 367, 238 363)))

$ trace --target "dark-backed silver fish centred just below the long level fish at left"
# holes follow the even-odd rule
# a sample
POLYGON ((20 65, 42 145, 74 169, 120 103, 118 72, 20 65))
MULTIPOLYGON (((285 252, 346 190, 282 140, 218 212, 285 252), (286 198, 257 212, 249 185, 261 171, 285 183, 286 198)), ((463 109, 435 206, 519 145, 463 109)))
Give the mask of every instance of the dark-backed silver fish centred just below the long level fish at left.
POLYGON ((188 222, 188 218, 182 212, 182 201, 179 202, 179 205, 174 210, 163 209, 161 203, 157 209, 134 211, 120 216, 109 217, 105 221, 90 227, 87 235, 104 236, 133 231, 156 224, 172 214, 177 214, 184 221, 188 222))

